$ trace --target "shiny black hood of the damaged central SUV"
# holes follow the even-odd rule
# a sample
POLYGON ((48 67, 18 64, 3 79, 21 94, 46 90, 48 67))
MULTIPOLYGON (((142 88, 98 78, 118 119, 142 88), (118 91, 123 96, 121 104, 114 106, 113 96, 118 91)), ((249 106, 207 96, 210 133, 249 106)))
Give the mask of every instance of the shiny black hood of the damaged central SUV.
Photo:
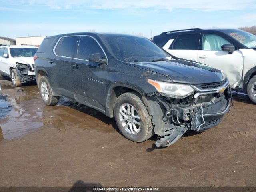
POLYGON ((176 83, 215 83, 221 82, 225 78, 218 69, 182 59, 158 62, 129 62, 128 64, 163 74, 176 83))

